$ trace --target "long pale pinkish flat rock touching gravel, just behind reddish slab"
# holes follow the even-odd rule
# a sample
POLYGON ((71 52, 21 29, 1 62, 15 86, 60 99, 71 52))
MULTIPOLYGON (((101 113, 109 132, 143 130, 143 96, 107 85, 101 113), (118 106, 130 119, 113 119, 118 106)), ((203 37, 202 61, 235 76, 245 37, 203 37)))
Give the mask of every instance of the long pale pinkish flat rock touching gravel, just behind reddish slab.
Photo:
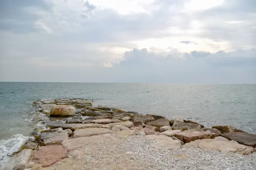
POLYGON ((61 144, 65 147, 67 151, 83 147, 87 144, 97 143, 102 141, 103 138, 100 136, 89 136, 89 137, 81 137, 81 138, 74 138, 68 139, 63 141, 61 144))

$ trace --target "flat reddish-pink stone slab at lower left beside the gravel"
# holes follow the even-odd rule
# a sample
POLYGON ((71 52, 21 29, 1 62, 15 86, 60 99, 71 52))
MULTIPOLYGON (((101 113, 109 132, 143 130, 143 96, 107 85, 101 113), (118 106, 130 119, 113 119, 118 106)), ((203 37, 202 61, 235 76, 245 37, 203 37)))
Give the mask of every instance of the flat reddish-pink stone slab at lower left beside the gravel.
POLYGON ((43 146, 39 147, 35 152, 33 161, 42 164, 42 167, 49 167, 57 161, 67 157, 67 150, 59 146, 43 146))

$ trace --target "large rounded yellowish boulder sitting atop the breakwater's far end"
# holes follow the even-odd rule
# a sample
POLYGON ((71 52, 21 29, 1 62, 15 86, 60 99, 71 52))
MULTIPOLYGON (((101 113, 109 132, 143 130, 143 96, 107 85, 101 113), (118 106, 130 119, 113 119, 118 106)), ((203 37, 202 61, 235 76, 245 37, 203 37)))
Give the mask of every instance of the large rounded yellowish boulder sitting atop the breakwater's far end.
POLYGON ((57 116, 73 116, 76 112, 76 108, 70 105, 56 105, 52 106, 50 114, 57 116))

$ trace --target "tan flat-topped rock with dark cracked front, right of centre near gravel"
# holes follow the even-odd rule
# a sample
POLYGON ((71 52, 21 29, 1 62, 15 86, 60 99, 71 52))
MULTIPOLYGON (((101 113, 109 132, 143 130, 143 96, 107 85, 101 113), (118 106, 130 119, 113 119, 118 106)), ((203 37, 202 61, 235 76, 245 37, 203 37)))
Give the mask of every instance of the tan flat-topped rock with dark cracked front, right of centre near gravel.
POLYGON ((177 133, 175 137, 177 137, 178 139, 180 139, 185 143, 188 143, 188 142, 195 141, 197 139, 212 138, 212 133, 204 130, 189 129, 189 130, 185 130, 183 132, 177 133))

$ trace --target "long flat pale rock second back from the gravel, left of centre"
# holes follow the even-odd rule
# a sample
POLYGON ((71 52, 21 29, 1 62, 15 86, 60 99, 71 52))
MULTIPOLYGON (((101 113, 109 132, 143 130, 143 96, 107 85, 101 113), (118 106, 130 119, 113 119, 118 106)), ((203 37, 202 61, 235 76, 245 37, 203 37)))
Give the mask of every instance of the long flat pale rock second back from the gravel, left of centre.
POLYGON ((113 133, 112 130, 105 128, 87 128, 87 129, 78 129, 73 132, 73 138, 88 137, 94 135, 103 135, 107 133, 113 133))

